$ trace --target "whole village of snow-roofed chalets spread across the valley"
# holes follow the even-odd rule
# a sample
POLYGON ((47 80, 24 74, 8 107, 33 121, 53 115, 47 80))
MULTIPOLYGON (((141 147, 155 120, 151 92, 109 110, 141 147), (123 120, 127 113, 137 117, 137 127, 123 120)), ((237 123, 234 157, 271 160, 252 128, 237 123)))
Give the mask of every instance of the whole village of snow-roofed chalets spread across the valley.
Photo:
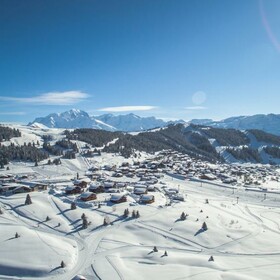
MULTIPOLYGON (((242 182, 244 186, 261 185, 265 180, 280 181, 277 166, 210 164, 179 152, 166 150, 142 162, 123 162, 120 166, 110 164, 92 166, 84 178, 77 176, 77 179, 65 188, 65 195, 78 195, 81 201, 92 201, 96 200, 100 193, 110 193, 110 200, 113 203, 127 201, 127 195, 131 195, 139 203, 153 203, 155 201, 153 192, 159 191, 157 183, 164 174, 180 179, 194 177, 216 180, 225 184, 242 182)), ((28 175, 0 174, 0 195, 47 188, 48 184, 31 180, 28 175)), ((172 199, 184 200, 184 197, 175 190, 163 188, 163 191, 172 199)))

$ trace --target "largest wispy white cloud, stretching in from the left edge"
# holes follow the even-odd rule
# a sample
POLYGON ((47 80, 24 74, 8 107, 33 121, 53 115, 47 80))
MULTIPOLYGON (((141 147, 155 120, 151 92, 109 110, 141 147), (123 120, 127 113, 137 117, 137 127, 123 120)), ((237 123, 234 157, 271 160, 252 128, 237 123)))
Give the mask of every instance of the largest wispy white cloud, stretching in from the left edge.
POLYGON ((34 105, 72 105, 89 95, 81 91, 47 92, 34 97, 6 97, 0 96, 0 100, 29 103, 34 105))

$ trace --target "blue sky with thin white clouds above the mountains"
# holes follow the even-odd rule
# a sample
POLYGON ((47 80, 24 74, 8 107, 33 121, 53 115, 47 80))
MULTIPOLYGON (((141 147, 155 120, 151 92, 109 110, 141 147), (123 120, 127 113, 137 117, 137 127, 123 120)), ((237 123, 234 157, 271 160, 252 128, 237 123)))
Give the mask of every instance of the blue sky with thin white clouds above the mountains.
POLYGON ((0 121, 280 113, 279 0, 1 0, 0 121))

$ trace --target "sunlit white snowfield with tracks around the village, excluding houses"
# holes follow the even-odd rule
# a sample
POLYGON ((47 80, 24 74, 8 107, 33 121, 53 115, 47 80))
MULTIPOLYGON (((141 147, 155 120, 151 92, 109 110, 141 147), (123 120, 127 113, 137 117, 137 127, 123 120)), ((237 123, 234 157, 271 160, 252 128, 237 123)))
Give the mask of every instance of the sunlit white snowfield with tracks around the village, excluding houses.
MULTIPOLYGON (((30 131, 34 140, 41 141, 44 130, 39 128, 26 130, 21 141, 28 141, 30 131)), ((56 139, 61 132, 53 130, 56 139)), ((102 280, 279 279, 279 193, 267 192, 264 197, 241 186, 164 174, 152 193, 155 202, 148 205, 138 204, 130 193, 127 202, 120 204, 112 204, 109 193, 97 194, 93 202, 64 194, 77 172, 84 175, 90 164, 123 161, 104 153, 91 161, 77 156, 63 159, 59 166, 15 162, 9 164, 9 171, 1 170, 0 175, 29 174, 34 180, 51 182, 51 187, 30 193, 30 205, 25 205, 26 194, 0 196, 0 279, 69 280, 78 279, 77 275, 102 280), (185 201, 169 203, 164 187, 180 190, 185 201), (71 202, 76 202, 75 210, 71 202), (125 209, 130 213, 126 218, 125 209), (139 211, 139 218, 131 217, 133 210, 139 211), (187 214, 185 220, 180 219, 182 212, 187 214), (86 229, 83 213, 89 221, 86 229), (108 225, 103 225, 104 219, 108 225), (207 230, 202 230, 204 222, 207 230)), ((270 183, 265 184, 269 188, 270 183)), ((277 182, 271 184, 279 187, 277 182)))

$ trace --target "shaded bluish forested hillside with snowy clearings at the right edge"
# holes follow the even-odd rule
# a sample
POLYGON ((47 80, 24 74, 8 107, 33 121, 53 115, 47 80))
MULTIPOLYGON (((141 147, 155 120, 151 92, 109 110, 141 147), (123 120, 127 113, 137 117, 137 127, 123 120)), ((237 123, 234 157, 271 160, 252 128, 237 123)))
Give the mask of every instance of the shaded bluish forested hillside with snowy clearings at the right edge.
POLYGON ((192 124, 186 127, 185 134, 196 146, 210 150, 211 145, 228 163, 280 163, 280 137, 261 130, 239 131, 192 124))

